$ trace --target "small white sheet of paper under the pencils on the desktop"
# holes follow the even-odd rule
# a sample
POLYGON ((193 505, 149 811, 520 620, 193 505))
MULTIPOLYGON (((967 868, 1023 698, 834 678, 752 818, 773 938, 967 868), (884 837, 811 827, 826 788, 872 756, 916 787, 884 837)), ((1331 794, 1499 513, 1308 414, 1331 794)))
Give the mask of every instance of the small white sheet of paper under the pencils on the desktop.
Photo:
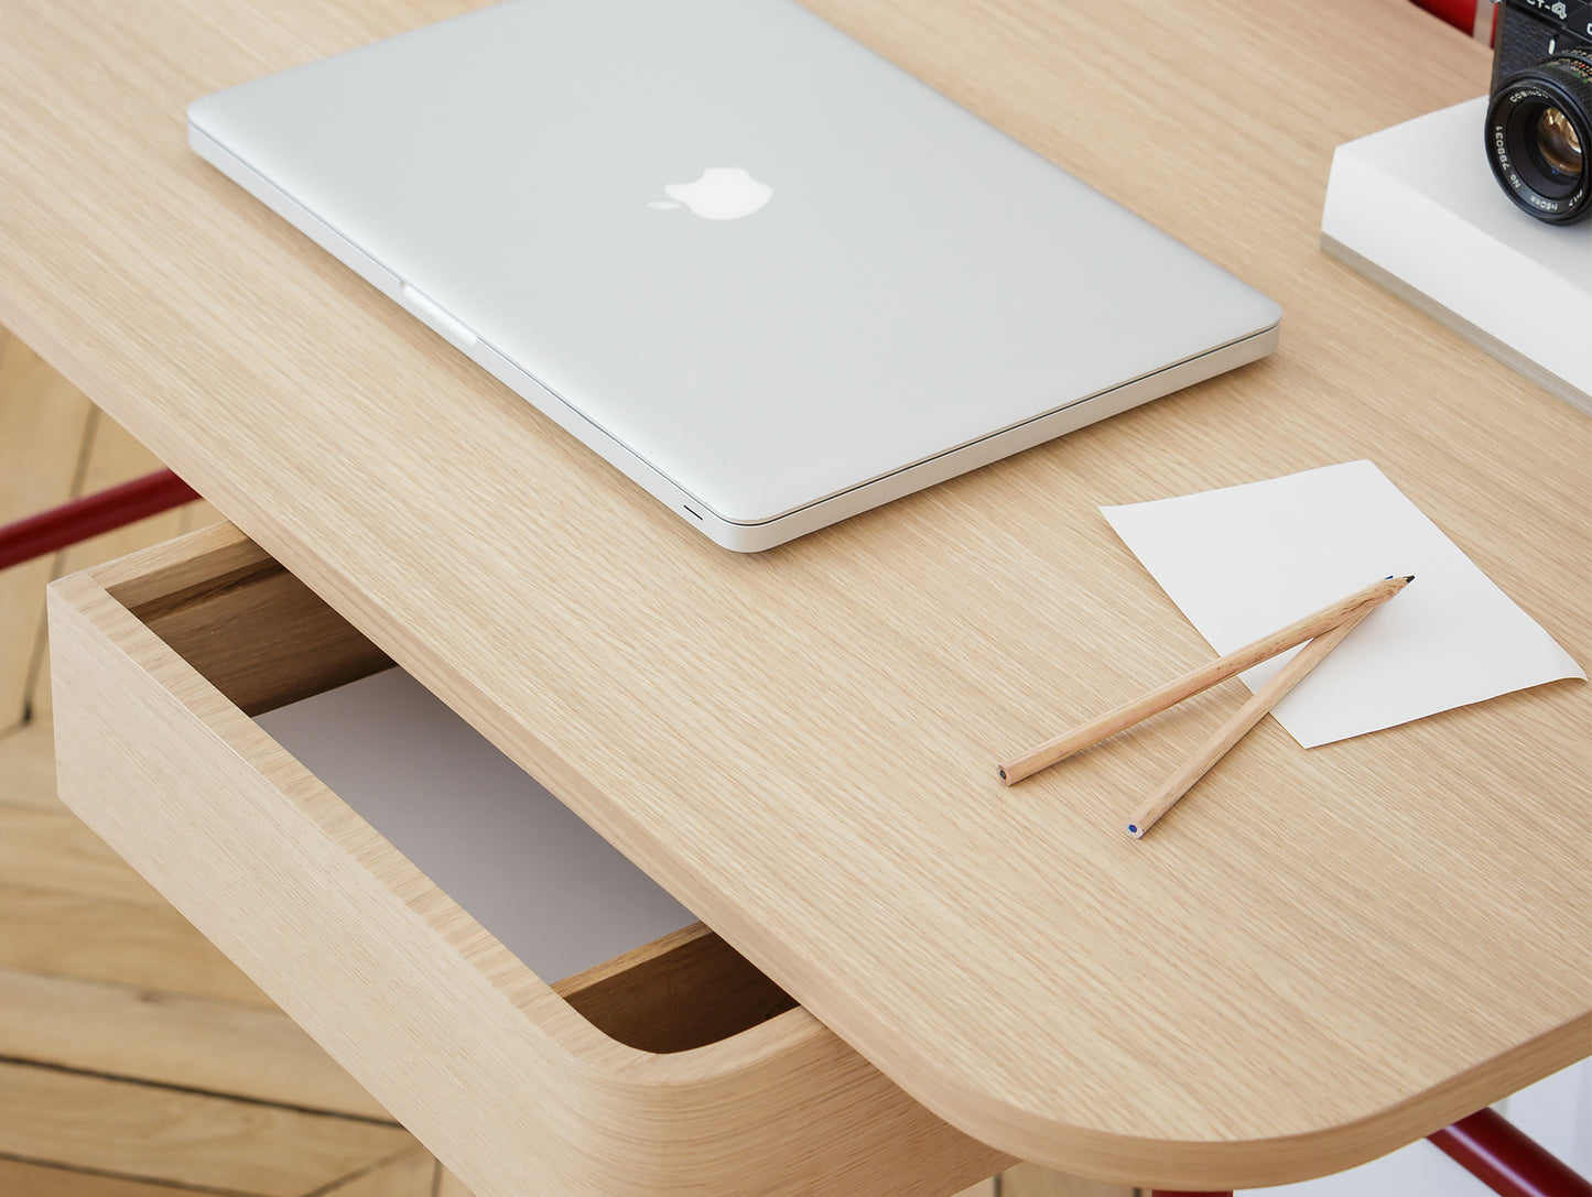
MULTIPOLYGON (((1586 678, 1371 462, 1100 511, 1218 654, 1415 575, 1272 708, 1305 748, 1586 678)), ((1290 656, 1243 683, 1259 689, 1290 656)))

